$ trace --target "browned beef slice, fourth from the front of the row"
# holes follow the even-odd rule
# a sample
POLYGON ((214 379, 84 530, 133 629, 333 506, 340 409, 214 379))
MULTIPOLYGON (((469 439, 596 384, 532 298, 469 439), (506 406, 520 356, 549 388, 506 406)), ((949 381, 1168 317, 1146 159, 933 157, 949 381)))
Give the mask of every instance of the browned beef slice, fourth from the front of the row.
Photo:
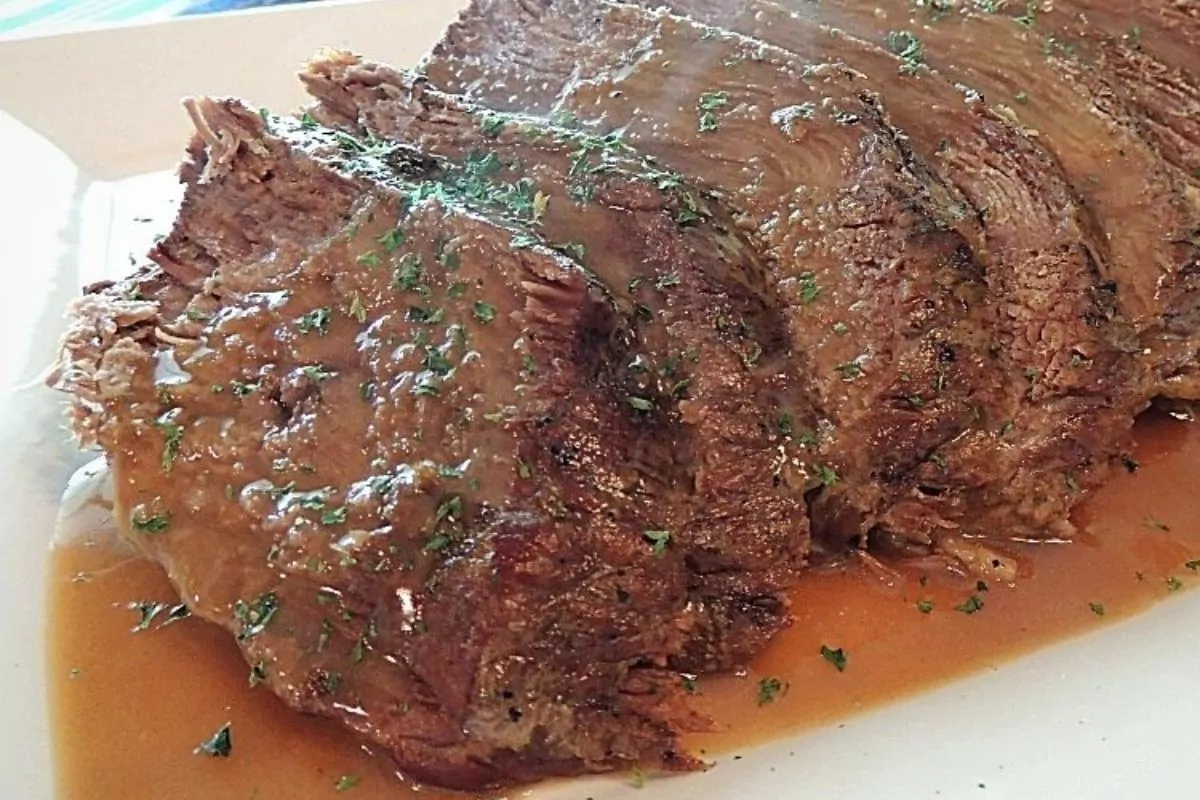
MULTIPOLYGON (((1036 373, 1038 378, 1032 387, 1019 380, 997 387, 979 427, 960 435, 936 458, 959 464, 958 470, 964 469, 964 461, 973 461, 970 469, 988 475, 996 469, 996 459, 1004 457, 994 452, 998 427, 1007 428, 1000 437, 1002 450, 1013 447, 1022 458, 1038 453, 1039 463, 1057 464, 1063 474, 1080 462, 1094 463, 1097 457, 1104 462, 1120 452, 1132 415, 1145 403, 1146 386, 1130 354, 1130 331, 1108 319, 1112 299, 1100 284, 1108 271, 1106 239, 1052 156, 978 95, 923 67, 917 35, 895 35, 884 49, 767 0, 737 6, 720 0, 673 0, 670 6, 806 60, 841 59, 868 76, 917 156, 967 198, 980 219, 994 342, 1003 348, 998 361, 1009 375, 1036 373), (1057 420, 1056 411, 1062 411, 1057 420), (1074 443, 1070 451, 1046 452, 1045 443, 1055 439, 1056 431, 1074 443)), ((930 470, 926 491, 944 488, 944 471, 940 463, 930 470)), ((1003 474, 1014 471, 1019 474, 1020 468, 1003 469, 1003 474)), ((1091 480, 1100 477, 1103 470, 1093 469, 1091 480)), ((1015 501, 1042 491, 1016 482, 1008 487, 1006 499, 1015 501)), ((1054 494, 1067 491, 1057 487, 1054 494)), ((997 510, 1003 507, 997 505, 997 510)), ((898 510, 894 529, 905 529, 910 509, 898 510)), ((1043 524, 1058 528, 1055 519, 1062 509, 1052 509, 1043 524)), ((1002 518, 990 522, 1001 524, 1002 518)))

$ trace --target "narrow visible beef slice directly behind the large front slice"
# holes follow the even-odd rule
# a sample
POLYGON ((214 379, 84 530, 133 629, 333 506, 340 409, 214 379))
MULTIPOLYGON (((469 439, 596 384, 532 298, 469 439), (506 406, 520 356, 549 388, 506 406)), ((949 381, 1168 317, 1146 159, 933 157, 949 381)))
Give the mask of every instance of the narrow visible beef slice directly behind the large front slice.
MULTIPOLYGON (((684 398, 688 419, 696 421, 703 437, 721 443, 710 451, 714 461, 706 465, 700 488, 704 513, 722 521, 722 533, 697 542, 688 563, 696 572, 697 590, 734 591, 746 613, 761 616, 758 599, 791 585, 799 567, 800 552, 790 545, 781 548, 780 542, 791 540, 779 530, 791 528, 790 518, 803 516, 802 495, 814 470, 803 449, 786 434, 811 426, 815 414, 799 389, 803 374, 791 357, 766 265, 734 235, 724 207, 689 190, 679 175, 637 157, 619 138, 475 108, 421 79, 348 53, 322 54, 301 78, 320 101, 308 113, 322 122, 403 142, 461 163, 488 160, 494 163, 494 179, 522 181, 532 197, 542 198, 530 223, 548 241, 569 242, 569 249, 582 253, 587 267, 635 320, 642 339, 671 354, 641 366, 642 374, 656 391, 684 398), (659 225, 665 218, 673 218, 674 224, 664 231, 659 225), (648 227, 647 219, 655 227, 648 227), (688 285, 680 287, 689 277, 671 249, 654 245, 674 237, 700 251, 719 242, 722 251, 714 258, 728 261, 728 279, 742 281, 750 297, 762 299, 752 315, 722 319, 713 309, 674 307, 676 296, 689 291, 688 285), (667 317, 660 319, 664 313, 667 317), (726 385, 720 391, 732 405, 720 414, 715 408, 703 413, 695 408, 695 399, 714 386, 697 381, 704 373, 692 366, 702 359, 695 343, 672 331, 670 319, 685 313, 695 315, 691 324, 709 319, 722 336, 738 342, 738 355, 746 365, 745 374, 722 374, 726 385), (756 402, 746 405, 743 397, 756 402), (754 523, 764 518, 764 510, 774 510, 778 530, 754 523)), ((707 666, 730 666, 728 658, 738 661, 737 654, 757 649, 758 637, 744 643, 736 638, 706 643, 710 654, 720 655, 715 663, 706 661, 707 666)))

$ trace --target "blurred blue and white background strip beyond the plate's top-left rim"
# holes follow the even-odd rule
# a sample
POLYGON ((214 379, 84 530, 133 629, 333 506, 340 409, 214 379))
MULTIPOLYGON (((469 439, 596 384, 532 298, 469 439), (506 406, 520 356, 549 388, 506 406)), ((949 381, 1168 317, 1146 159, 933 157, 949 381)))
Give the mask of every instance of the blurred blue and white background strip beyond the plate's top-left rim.
POLYGON ((308 1, 312 0, 0 0, 0 37, 308 1))

